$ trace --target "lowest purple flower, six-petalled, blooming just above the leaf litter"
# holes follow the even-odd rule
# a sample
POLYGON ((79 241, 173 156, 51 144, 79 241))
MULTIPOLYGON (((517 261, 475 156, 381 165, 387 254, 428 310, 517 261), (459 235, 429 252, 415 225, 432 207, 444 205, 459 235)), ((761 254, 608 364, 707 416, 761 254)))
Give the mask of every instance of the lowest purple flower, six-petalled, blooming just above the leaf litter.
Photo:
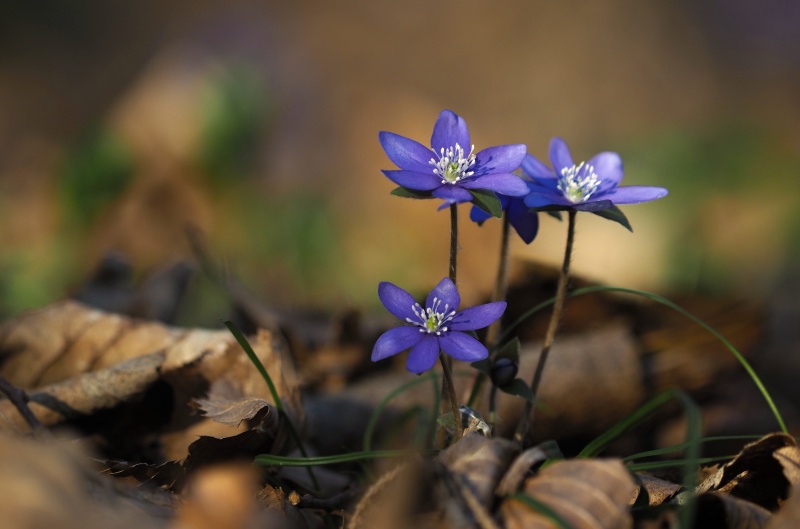
POLYGON ((436 364, 439 351, 465 362, 487 358, 486 347, 463 331, 487 327, 506 310, 506 303, 498 301, 456 312, 461 296, 449 278, 431 290, 424 308, 411 294, 386 281, 378 285, 378 297, 389 312, 408 325, 383 333, 372 349, 372 361, 410 348, 406 369, 417 374, 436 364))

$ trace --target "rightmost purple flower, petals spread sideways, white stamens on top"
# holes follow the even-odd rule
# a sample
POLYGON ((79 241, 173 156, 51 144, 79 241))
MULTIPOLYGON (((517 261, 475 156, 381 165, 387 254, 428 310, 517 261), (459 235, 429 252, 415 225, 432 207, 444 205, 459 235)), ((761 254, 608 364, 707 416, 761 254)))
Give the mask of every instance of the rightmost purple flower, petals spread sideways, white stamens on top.
POLYGON ((525 197, 528 207, 595 212, 619 204, 649 202, 668 193, 663 187, 618 187, 622 180, 622 159, 615 152, 601 152, 576 165, 564 140, 553 138, 550 162, 553 169, 530 155, 522 162, 523 172, 535 184, 525 197))

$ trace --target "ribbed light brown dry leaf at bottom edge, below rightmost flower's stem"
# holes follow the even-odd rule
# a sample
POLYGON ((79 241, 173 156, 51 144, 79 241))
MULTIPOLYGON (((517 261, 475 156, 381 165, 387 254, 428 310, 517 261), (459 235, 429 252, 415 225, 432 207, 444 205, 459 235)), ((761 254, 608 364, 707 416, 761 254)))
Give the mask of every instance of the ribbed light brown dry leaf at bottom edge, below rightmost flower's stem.
MULTIPOLYGON (((636 484, 621 461, 561 461, 525 482, 524 492, 558 513, 573 529, 625 529, 633 526, 628 503, 636 484)), ((500 506, 507 529, 551 529, 547 517, 519 500, 500 506)))

